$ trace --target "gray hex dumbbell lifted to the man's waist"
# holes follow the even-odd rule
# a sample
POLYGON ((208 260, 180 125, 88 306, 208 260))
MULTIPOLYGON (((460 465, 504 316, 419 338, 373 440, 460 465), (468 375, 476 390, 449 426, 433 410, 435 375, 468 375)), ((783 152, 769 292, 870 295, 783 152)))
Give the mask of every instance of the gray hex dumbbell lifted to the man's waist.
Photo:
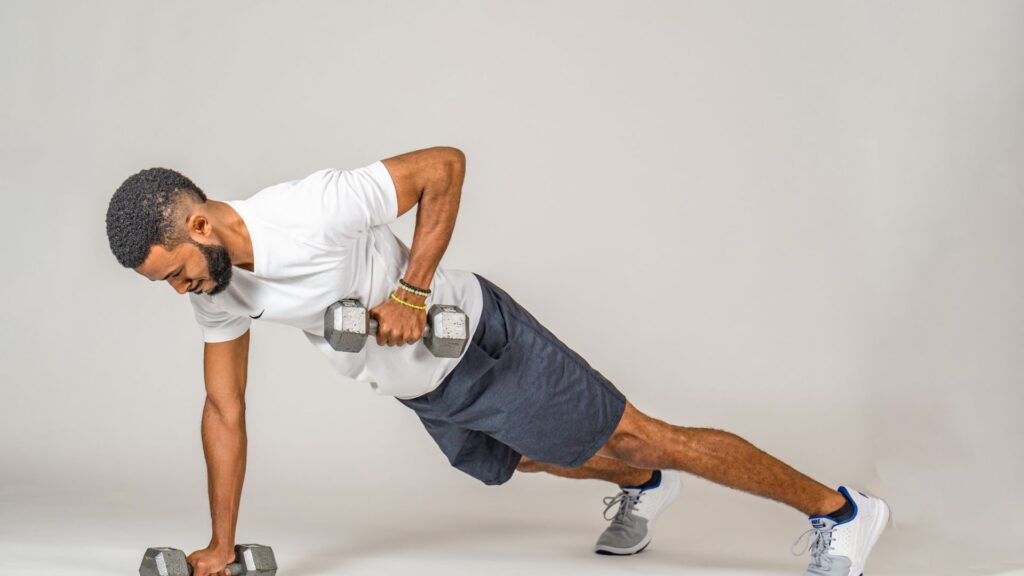
MULTIPOLYGON (((377 321, 362 302, 339 300, 324 314, 324 337, 338 352, 359 352, 368 336, 377 334, 377 321)), ((469 317, 459 306, 434 304, 427 311, 423 343, 437 358, 459 358, 469 341, 469 317)))

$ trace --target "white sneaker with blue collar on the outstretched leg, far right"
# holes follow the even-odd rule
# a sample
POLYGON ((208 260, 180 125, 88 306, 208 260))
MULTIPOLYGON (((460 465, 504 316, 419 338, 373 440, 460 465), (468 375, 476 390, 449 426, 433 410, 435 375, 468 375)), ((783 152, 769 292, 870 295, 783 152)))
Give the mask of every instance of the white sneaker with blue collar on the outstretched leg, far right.
POLYGON ((889 523, 885 500, 845 486, 840 486, 839 491, 853 504, 853 516, 843 522, 812 516, 810 530, 793 543, 796 548, 804 537, 810 537, 803 550, 793 550, 796 556, 811 552, 811 564, 804 576, 863 576, 867 554, 889 523))

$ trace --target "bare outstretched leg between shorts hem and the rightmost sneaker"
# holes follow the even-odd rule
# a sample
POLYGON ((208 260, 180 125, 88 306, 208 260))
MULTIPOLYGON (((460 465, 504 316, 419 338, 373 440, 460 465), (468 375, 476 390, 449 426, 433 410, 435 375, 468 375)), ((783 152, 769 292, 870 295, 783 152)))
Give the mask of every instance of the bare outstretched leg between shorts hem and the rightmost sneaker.
POLYGON ((687 471, 712 482, 771 498, 808 515, 827 515, 846 498, 734 434, 676 426, 626 405, 618 426, 599 456, 638 468, 687 471))

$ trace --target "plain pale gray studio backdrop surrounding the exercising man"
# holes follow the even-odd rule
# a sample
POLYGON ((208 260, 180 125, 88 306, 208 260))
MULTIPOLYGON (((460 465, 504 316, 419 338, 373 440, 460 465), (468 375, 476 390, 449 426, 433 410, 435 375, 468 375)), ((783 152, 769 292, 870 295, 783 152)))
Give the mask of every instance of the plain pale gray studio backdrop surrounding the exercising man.
MULTIPOLYGON (((209 537, 200 333, 109 251, 124 178, 238 199, 434 145, 468 158, 444 264, 640 409, 886 497, 872 573, 1024 567, 1024 3, 6 0, 0 45, 3 574, 209 537)), ((594 557, 611 486, 478 485, 294 329, 252 345, 239 538, 283 575, 806 563, 799 513, 695 479, 594 557)))

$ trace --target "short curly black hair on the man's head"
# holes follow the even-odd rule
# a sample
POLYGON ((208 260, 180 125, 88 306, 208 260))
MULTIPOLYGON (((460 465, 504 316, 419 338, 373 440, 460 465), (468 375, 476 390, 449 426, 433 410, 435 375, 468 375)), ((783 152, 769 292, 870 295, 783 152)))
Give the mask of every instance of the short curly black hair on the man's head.
POLYGON ((156 244, 171 249, 184 242, 188 200, 206 203, 206 194, 169 168, 147 168, 126 179, 106 208, 106 239, 121 265, 138 268, 156 244))

